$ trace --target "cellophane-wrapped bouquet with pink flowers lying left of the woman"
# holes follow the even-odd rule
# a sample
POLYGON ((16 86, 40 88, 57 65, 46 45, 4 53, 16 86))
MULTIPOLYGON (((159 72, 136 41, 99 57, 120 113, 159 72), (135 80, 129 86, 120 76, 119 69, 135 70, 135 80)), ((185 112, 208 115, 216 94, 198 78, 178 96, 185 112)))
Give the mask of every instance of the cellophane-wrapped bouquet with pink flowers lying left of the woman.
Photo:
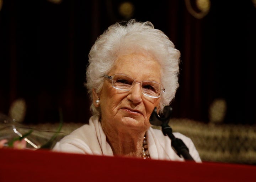
POLYGON ((63 118, 61 110, 60 124, 57 131, 27 127, 4 114, 0 114, 0 148, 51 149, 56 141, 66 135, 60 132, 62 125, 63 118))

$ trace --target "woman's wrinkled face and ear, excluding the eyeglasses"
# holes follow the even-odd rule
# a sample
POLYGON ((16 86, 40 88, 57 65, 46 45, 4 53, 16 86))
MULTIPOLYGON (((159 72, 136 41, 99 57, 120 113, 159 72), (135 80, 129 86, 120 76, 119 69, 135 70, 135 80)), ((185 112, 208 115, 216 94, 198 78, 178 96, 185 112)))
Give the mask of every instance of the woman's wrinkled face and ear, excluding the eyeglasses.
MULTIPOLYGON (((136 82, 161 83, 159 63, 144 54, 133 53, 118 57, 108 75, 117 73, 128 75, 136 79, 136 82)), ((100 98, 103 129, 118 132, 146 131, 150 127, 150 115, 154 107, 159 110, 160 103, 160 98, 143 95, 140 84, 135 84, 131 90, 123 92, 113 88, 108 78, 105 79, 101 92, 95 95, 94 103, 97 98, 100 98)))

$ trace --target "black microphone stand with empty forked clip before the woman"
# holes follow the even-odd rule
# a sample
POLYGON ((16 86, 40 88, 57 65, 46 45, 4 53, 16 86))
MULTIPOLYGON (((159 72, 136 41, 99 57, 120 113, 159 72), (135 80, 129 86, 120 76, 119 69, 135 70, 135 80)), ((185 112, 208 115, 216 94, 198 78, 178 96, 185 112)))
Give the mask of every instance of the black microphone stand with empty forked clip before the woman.
POLYGON ((174 149, 174 151, 176 152, 176 154, 179 157, 183 157, 185 160, 194 161, 194 159, 190 155, 185 143, 181 139, 176 138, 174 136, 174 134, 172 134, 172 128, 168 125, 168 122, 171 118, 171 112, 172 112, 172 107, 165 106, 164 112, 163 112, 163 115, 165 117, 159 117, 159 115, 157 114, 156 107, 155 107, 154 111, 152 112, 152 114, 150 116, 149 122, 151 123, 151 125, 162 127, 163 134, 165 136, 167 135, 171 139, 171 147, 172 147, 172 149, 174 149))

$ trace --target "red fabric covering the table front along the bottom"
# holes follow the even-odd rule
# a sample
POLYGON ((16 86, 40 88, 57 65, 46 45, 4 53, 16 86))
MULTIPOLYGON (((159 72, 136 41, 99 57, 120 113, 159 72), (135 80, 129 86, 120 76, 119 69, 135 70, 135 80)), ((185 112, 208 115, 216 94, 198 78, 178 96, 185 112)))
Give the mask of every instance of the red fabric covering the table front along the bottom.
POLYGON ((0 182, 255 182, 256 166, 0 149, 0 182))

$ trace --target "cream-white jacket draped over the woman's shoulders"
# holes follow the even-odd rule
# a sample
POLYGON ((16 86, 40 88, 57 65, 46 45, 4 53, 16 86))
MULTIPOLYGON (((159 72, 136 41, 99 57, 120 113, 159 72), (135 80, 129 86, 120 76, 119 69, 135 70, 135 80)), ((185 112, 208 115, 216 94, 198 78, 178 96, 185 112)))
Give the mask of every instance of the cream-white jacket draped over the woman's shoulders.
MULTIPOLYGON (((189 149, 189 153, 196 162, 202 162, 192 140, 181 133, 173 133, 180 138, 189 149)), ((184 161, 171 147, 171 139, 164 136, 160 129, 149 128, 146 132, 148 150, 151 159, 184 161)), ((81 153, 90 155, 114 156, 106 140, 101 123, 96 118, 89 120, 89 125, 83 125, 69 135, 62 138, 53 148, 53 151, 81 153)))

